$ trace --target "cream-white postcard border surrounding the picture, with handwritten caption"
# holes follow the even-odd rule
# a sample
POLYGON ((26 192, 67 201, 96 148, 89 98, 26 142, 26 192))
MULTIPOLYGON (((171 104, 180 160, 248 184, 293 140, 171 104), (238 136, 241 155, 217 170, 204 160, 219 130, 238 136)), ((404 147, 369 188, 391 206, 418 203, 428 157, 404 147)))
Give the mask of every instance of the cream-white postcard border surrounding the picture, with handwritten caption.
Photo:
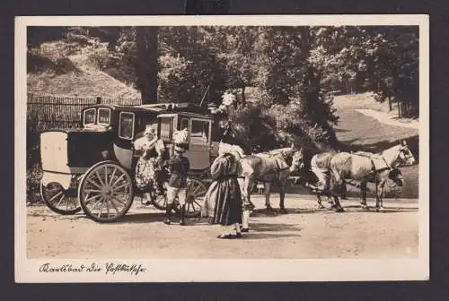
MULTIPOLYGON (((16 282, 353 281, 429 279, 429 26, 427 15, 238 15, 238 16, 57 16, 15 20, 15 280, 16 282), (138 260, 150 272, 114 277, 85 273, 40 273, 44 262, 76 265, 84 260, 26 258, 26 27, 136 25, 419 25, 419 249, 411 260, 138 260), (176 272, 166 269, 175 264, 176 272), (213 268, 212 268, 213 267, 213 268), (214 271, 209 273, 209 271, 214 271), (236 272, 238 271, 238 272, 236 272)), ((107 259, 96 262, 103 264, 107 259)), ((114 259, 114 262, 120 262, 114 259)))

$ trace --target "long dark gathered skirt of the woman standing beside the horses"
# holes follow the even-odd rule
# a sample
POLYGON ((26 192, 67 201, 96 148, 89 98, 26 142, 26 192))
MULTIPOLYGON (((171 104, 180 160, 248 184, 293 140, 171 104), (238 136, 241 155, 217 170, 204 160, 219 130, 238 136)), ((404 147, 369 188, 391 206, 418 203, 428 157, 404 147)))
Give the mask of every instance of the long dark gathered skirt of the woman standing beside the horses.
POLYGON ((214 181, 206 194, 214 223, 229 226, 242 223, 242 193, 236 177, 214 181))

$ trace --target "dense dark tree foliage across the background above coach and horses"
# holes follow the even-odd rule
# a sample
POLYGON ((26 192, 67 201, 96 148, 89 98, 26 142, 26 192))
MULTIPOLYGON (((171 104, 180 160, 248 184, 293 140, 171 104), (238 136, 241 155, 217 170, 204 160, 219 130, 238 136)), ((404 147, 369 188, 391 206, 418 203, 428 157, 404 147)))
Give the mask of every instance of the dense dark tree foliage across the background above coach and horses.
POLYGON ((267 137, 334 145, 335 90, 371 90, 379 101, 400 103, 401 116, 418 115, 414 27, 70 27, 41 39, 41 29, 31 31, 31 45, 52 41, 58 56, 89 49, 90 64, 135 83, 146 102, 219 105, 232 90, 237 101, 224 117, 249 129, 249 141, 262 149, 267 137), (247 103, 251 87, 259 95, 247 103))

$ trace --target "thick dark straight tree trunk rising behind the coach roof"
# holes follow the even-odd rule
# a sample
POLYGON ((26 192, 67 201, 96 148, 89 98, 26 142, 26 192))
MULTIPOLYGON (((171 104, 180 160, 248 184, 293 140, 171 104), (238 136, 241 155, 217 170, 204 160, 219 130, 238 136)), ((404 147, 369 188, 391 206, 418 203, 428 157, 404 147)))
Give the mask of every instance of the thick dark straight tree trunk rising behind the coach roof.
POLYGON ((157 34, 158 28, 155 26, 136 27, 137 87, 143 104, 157 102, 157 34))

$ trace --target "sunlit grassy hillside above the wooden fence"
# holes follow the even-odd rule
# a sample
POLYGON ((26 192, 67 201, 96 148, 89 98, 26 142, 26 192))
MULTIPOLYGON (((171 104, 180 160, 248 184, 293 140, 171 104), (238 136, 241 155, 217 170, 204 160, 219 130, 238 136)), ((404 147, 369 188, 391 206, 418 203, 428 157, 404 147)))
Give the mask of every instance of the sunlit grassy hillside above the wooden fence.
POLYGON ((97 68, 90 58, 106 46, 72 50, 69 44, 50 42, 33 48, 27 57, 27 91, 35 95, 136 98, 140 92, 97 68), (82 50, 82 51, 81 51, 82 50))

